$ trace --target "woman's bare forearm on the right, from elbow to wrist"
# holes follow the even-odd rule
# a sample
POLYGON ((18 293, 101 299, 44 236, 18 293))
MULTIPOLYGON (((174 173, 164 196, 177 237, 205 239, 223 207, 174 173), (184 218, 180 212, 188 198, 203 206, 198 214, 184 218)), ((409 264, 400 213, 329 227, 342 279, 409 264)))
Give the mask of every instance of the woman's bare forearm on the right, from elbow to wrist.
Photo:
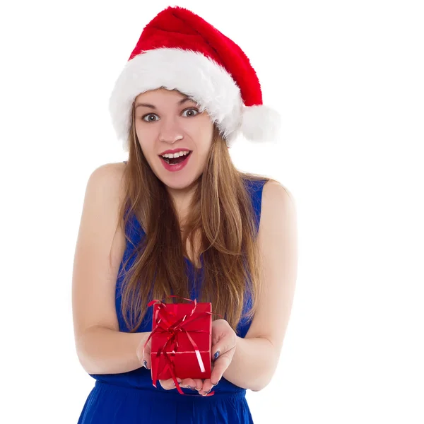
POLYGON ((276 350, 269 340, 237 336, 234 356, 223 377, 243 389, 258 391, 269 384, 277 363, 276 350))

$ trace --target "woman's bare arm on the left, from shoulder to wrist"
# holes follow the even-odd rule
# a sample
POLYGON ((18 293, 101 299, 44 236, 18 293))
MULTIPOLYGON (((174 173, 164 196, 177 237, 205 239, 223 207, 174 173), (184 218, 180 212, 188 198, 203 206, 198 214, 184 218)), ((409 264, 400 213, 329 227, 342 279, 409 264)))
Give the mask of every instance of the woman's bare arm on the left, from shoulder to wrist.
POLYGON ((89 374, 141 367, 136 348, 146 333, 119 332, 115 290, 125 235, 118 225, 124 163, 102 165, 86 187, 72 274, 76 353, 89 374))

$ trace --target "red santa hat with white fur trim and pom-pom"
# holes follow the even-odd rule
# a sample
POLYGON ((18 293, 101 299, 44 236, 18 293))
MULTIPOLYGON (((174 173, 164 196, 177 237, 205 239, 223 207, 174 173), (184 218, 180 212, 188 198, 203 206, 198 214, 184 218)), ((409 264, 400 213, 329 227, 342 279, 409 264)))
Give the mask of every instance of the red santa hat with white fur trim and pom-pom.
POLYGON ((276 141, 280 115, 262 104, 246 54, 186 8, 167 7, 143 28, 117 78, 109 108, 125 151, 134 99, 160 87, 177 89, 206 110, 228 147, 239 131, 250 141, 276 141))

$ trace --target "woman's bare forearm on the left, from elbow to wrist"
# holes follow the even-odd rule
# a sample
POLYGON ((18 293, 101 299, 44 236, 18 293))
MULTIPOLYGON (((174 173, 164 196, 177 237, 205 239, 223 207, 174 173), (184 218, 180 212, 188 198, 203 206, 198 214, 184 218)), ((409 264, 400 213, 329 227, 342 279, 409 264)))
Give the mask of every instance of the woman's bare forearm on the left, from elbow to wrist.
POLYGON ((140 368, 136 350, 149 332, 124 333, 101 326, 88 329, 76 341, 81 365, 88 374, 119 374, 140 368))

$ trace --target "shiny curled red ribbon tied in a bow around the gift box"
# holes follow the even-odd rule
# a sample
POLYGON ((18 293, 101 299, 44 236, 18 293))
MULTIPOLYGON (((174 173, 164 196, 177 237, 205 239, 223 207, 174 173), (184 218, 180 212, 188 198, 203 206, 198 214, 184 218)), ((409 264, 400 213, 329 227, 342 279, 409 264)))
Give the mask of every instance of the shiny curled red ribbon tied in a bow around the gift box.
MULTIPOLYGON (((169 368, 170 373, 172 376, 172 379, 174 380, 175 387, 177 388, 177 391, 179 394, 183 394, 186 396, 202 396, 201 394, 185 394, 181 387, 179 386, 179 383, 177 381, 177 377, 175 376, 175 354, 178 351, 178 335, 181 334, 183 331, 185 334, 187 334, 187 338, 189 339, 190 343, 192 343, 194 352, 196 353, 196 359, 199 363, 199 368, 201 372, 205 371, 204 363, 201 359, 199 347, 196 345, 196 342, 193 340, 193 338, 189 335, 189 331, 184 329, 184 326, 187 325, 189 322, 196 321, 196 319, 203 318, 203 314, 208 315, 215 315, 212 312, 203 312, 203 314, 200 314, 198 317, 194 317, 193 314, 196 311, 197 307, 197 301, 196 299, 191 300, 187 298, 181 298, 179 296, 170 295, 167 296, 167 298, 179 298, 184 300, 189 300, 189 302, 192 302, 194 304, 194 307, 192 309, 192 312, 189 314, 185 314, 183 317, 175 321, 175 314, 168 310, 167 304, 164 303, 162 300, 152 300, 148 303, 148 306, 153 305, 154 303, 159 303, 158 310, 156 310, 156 314, 154 317, 155 322, 155 328, 153 331, 151 331, 151 334, 148 336, 146 343, 144 343, 143 346, 143 357, 144 357, 144 348, 146 348, 146 345, 148 341, 150 340, 151 336, 155 333, 167 333, 167 341, 165 344, 158 348, 158 352, 156 353, 156 356, 159 357, 161 353, 163 353, 163 356, 165 358, 165 369, 164 372, 169 368), (167 351, 171 351, 170 355, 167 353, 167 351)), ((219 315, 220 316, 220 315, 219 315)), ((191 333, 206 333, 206 330, 190 330, 191 333)), ((156 387, 156 381, 158 380, 158 367, 155 367, 155 370, 152 371, 152 380, 153 380, 153 386, 156 387)), ((215 392, 211 391, 210 393, 206 394, 206 396, 213 396, 215 392)))

